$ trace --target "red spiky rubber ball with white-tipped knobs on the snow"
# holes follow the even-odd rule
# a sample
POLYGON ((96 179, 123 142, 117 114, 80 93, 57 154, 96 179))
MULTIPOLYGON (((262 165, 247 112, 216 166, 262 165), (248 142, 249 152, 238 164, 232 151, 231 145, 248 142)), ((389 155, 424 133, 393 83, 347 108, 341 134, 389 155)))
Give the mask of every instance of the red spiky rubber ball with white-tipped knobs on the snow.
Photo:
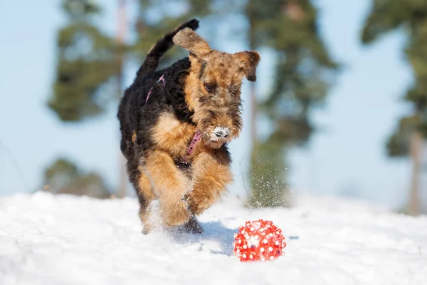
POLYGON ((233 252, 240 261, 278 259, 285 247, 282 230, 271 221, 248 221, 234 234, 233 252))

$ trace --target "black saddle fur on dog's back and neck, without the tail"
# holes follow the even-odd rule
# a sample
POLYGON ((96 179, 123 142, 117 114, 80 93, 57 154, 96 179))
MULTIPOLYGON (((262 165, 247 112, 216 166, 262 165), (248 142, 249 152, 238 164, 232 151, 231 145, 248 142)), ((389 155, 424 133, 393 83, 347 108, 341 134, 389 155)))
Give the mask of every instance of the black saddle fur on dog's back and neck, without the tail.
POLYGON ((164 111, 174 113, 181 122, 192 123, 192 113, 184 99, 184 79, 189 68, 189 58, 181 59, 168 68, 137 78, 125 90, 117 116, 122 132, 122 152, 127 160, 132 160, 137 155, 133 150, 135 145, 132 147, 132 133, 137 132, 139 152, 152 147, 150 130, 164 111), (165 86, 162 82, 156 83, 161 76, 164 76, 165 86), (152 93, 145 105, 151 88, 152 93))

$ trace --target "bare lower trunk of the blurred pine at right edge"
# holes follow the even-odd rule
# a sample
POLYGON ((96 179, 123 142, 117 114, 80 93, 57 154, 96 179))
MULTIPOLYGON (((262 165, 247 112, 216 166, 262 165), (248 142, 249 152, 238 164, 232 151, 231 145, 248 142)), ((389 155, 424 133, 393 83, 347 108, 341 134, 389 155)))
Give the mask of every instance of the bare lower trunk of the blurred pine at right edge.
POLYGON ((408 202, 408 214, 419 214, 419 188, 420 188, 420 170, 421 170, 421 150, 423 147, 423 137, 420 132, 415 131, 411 135, 410 145, 412 166, 411 192, 408 202))

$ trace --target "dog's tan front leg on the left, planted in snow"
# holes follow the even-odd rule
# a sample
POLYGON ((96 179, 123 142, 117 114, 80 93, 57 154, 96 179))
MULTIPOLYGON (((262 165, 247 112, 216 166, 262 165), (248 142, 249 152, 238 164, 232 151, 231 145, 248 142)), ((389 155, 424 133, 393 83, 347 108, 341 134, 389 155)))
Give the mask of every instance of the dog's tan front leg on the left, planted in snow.
POLYGON ((167 152, 154 150, 147 156, 145 166, 159 196, 164 224, 174 227, 189 222, 191 214, 182 196, 189 190, 190 182, 173 158, 167 152))

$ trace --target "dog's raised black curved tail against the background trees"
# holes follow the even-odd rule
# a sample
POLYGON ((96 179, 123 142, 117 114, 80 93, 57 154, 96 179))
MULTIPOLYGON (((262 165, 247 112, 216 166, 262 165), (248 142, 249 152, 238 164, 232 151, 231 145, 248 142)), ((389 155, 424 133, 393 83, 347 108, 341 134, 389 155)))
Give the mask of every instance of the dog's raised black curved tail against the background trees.
POLYGON ((199 21, 192 19, 191 21, 185 22, 175 28, 174 31, 167 33, 163 38, 160 38, 149 50, 144 63, 142 63, 142 66, 137 72, 137 77, 146 76, 147 73, 155 71, 157 66, 159 66, 159 59, 174 45, 172 38, 174 38, 176 33, 187 27, 195 31, 199 28, 199 21))

